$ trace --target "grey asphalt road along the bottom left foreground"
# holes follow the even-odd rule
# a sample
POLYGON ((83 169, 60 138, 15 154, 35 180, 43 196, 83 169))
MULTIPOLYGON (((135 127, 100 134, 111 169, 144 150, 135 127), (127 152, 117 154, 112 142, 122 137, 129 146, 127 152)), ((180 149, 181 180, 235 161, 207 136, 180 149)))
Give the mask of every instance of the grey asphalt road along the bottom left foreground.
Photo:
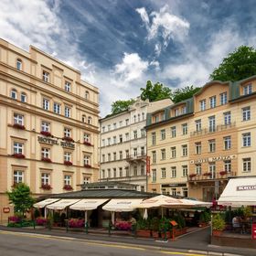
MULTIPOLYGON (((65 240, 36 234, 0 233, 1 256, 197 256, 196 253, 154 251, 130 245, 99 244, 93 241, 65 240)), ((202 254, 200 254, 202 256, 202 254)))

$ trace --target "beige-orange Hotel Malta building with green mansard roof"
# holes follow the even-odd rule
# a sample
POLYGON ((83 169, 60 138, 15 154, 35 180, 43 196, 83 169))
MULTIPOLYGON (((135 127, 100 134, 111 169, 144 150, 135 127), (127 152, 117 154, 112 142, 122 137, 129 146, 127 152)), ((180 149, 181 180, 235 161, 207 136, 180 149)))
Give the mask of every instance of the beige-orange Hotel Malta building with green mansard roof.
POLYGON ((229 177, 256 176, 255 111, 253 76, 237 82, 211 81, 193 98, 149 115, 147 148, 155 157, 150 189, 211 201, 229 177), (186 183, 188 193, 183 193, 186 183))

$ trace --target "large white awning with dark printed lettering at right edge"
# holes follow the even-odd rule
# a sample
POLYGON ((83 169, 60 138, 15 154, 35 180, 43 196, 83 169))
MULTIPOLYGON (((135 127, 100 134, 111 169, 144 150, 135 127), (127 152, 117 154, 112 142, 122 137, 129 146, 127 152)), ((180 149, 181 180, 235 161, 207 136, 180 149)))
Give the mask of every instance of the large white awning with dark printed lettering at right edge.
POLYGON ((232 207, 256 206, 256 177, 229 179, 218 204, 232 207))

